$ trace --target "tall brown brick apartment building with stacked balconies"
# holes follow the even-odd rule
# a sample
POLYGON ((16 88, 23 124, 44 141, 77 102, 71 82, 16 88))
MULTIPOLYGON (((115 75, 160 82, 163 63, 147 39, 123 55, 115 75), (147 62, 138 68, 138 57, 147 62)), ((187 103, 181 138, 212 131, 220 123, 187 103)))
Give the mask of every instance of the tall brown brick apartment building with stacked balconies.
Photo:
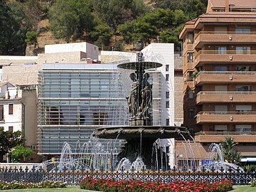
POLYGON ((208 145, 228 135, 256 156, 256 1, 208 0, 183 41, 184 126, 208 145))

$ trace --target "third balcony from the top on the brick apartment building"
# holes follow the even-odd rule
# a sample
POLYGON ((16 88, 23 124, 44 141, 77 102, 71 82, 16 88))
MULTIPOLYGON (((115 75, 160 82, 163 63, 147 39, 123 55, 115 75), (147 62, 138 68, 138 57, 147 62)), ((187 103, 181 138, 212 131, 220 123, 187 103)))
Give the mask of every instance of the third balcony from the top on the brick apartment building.
POLYGON ((200 71, 196 75, 197 85, 203 83, 256 83, 256 71, 200 71))

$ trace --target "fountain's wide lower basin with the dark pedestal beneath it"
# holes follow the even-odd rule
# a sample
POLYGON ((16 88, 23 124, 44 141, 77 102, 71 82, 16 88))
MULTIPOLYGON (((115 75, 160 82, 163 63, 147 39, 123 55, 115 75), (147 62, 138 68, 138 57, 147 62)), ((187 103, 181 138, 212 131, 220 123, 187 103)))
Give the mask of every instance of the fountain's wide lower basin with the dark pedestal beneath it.
MULTIPOLYGON (((176 126, 124 126, 97 128, 92 134, 104 139, 125 139, 127 144, 119 152, 117 164, 123 158, 132 163, 138 157, 144 162, 146 169, 152 167, 153 144, 156 139, 183 138, 189 134, 186 127, 176 126)), ((159 160, 163 161, 163 159, 159 160)), ((166 161, 166 159, 164 159, 166 161)))

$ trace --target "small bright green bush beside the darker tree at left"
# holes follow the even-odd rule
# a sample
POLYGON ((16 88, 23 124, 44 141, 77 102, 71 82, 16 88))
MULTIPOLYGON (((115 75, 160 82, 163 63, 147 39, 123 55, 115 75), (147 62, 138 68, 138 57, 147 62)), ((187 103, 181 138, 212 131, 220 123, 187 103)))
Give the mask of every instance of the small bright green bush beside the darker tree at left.
POLYGON ((33 150, 29 148, 25 148, 21 145, 14 146, 11 150, 11 162, 13 163, 21 163, 25 161, 26 157, 33 154, 33 150))

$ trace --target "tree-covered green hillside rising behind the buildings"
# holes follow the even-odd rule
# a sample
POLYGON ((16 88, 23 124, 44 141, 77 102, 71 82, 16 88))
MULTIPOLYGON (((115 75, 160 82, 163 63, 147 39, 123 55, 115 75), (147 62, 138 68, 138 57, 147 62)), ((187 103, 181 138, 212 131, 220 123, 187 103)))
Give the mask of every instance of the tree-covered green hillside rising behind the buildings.
POLYGON ((38 21, 49 18, 55 38, 100 48, 136 41, 175 43, 183 24, 206 11, 206 0, 16 0, 0 1, 0 55, 23 55, 36 46, 38 21), (8 3, 7 3, 8 2, 8 3), (35 33, 36 32, 36 33, 35 33), (112 38, 113 37, 113 38, 112 38), (117 38, 118 37, 118 38, 117 38), (121 38, 120 38, 121 37, 121 38))

